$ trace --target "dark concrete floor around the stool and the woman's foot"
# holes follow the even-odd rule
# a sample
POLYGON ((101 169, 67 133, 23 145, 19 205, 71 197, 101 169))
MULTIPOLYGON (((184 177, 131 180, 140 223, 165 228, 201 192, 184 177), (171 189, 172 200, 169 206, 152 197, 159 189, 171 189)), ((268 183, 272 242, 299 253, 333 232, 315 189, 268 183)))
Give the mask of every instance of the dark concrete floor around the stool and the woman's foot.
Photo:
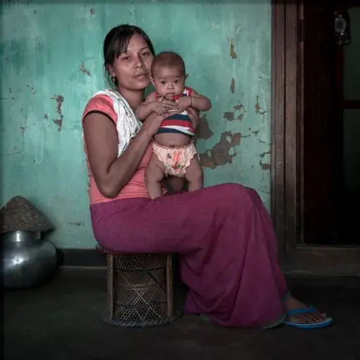
POLYGON ((294 295, 334 318, 330 328, 310 331, 220 328, 198 316, 156 328, 116 328, 101 320, 105 278, 103 270, 62 269, 41 287, 6 291, 4 359, 360 359, 359 278, 289 280, 294 295))

